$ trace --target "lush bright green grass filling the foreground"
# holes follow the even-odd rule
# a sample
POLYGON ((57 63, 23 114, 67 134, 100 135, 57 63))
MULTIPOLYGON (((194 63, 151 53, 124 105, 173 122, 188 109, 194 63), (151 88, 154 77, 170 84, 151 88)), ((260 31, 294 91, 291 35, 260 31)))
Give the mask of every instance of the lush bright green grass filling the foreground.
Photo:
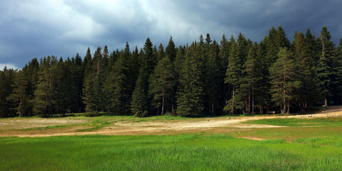
POLYGON ((0 137, 0 170, 340 170, 342 136, 293 143, 230 135, 0 137))

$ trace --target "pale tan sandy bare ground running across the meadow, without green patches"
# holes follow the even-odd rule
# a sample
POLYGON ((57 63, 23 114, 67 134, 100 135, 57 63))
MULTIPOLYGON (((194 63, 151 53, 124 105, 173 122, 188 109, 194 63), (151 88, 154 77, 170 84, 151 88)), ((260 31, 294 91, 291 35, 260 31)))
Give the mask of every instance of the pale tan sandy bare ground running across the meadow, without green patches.
MULTIPOLYGON (((188 120, 157 120, 148 122, 121 121, 114 122, 109 127, 103 127, 95 131, 77 132, 77 130, 88 129, 91 126, 79 125, 73 127, 57 127, 54 129, 21 130, 34 127, 47 126, 70 126, 72 124, 88 123, 90 120, 77 118, 23 118, 23 119, 1 119, 0 136, 19 137, 44 137, 55 135, 169 135, 178 133, 214 132, 227 133, 237 129, 274 128, 281 127, 266 124, 244 124, 248 120, 260 120, 267 118, 326 118, 342 116, 342 106, 324 107, 315 114, 299 116, 248 116, 248 117, 218 117, 218 118, 194 118, 188 120)), ((244 137, 257 140, 254 137, 244 137)), ((259 139, 258 139, 259 140, 259 139)), ((262 140, 262 139, 260 139, 262 140)))

